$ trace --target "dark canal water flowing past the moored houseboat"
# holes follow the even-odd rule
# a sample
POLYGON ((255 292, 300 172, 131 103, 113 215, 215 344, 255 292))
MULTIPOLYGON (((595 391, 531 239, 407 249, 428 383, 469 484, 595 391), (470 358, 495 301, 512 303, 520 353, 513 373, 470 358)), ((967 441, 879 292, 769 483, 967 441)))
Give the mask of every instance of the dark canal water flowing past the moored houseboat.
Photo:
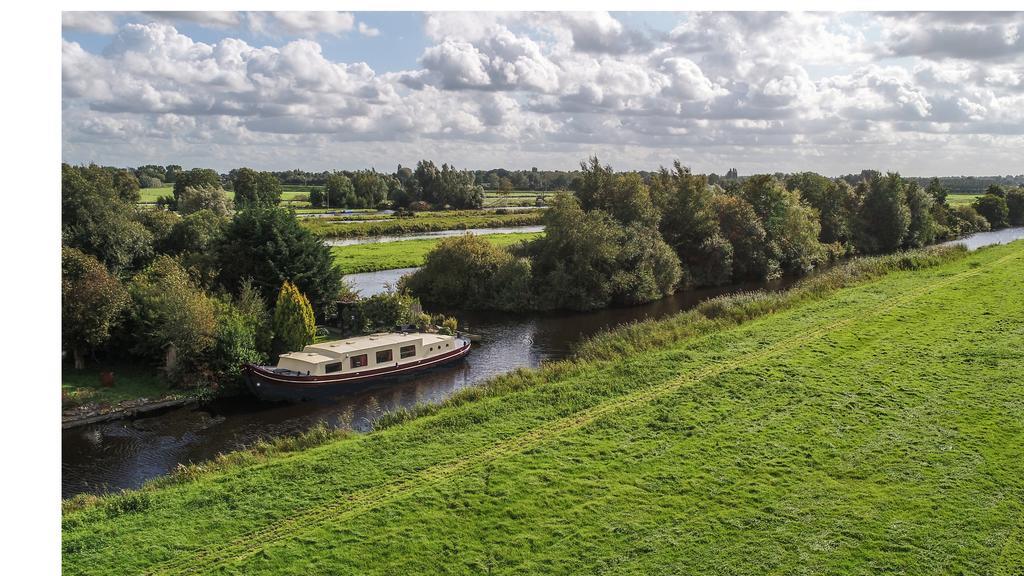
MULTIPOLYGON (((1024 228, 979 234, 958 242, 974 249, 1020 238, 1024 238, 1024 228)), ((381 290, 385 283, 393 283, 401 273, 388 271, 348 278, 364 294, 370 294, 381 290)), ((178 463, 208 460, 261 438, 295 435, 319 421, 367 430, 387 411, 441 402, 498 374, 565 358, 581 340, 620 324, 663 318, 719 294, 783 289, 792 282, 785 279, 690 290, 641 306, 590 313, 458 312, 460 324, 479 334, 482 341, 464 362, 415 379, 365 389, 331 403, 267 404, 242 397, 63 430, 61 491, 63 497, 69 497, 137 487, 168 474, 178 463)))

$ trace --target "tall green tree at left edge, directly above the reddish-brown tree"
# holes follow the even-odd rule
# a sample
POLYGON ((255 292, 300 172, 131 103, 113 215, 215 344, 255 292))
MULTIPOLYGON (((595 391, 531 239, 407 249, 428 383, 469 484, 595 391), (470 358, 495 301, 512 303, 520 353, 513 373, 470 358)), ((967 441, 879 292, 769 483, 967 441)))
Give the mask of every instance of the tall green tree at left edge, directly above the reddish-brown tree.
POLYGON ((62 244, 99 259, 113 274, 137 270, 153 255, 153 234, 135 207, 114 190, 98 166, 60 165, 62 244))

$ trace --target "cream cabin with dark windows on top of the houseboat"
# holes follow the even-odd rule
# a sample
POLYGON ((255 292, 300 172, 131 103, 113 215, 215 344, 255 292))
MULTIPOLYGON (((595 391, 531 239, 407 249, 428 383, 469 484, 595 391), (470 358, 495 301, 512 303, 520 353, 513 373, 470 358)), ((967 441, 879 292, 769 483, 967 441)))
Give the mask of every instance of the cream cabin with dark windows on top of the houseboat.
POLYGON ((458 346, 459 341, 445 334, 371 334, 309 344, 302 352, 283 354, 278 369, 310 376, 348 374, 425 360, 458 346))

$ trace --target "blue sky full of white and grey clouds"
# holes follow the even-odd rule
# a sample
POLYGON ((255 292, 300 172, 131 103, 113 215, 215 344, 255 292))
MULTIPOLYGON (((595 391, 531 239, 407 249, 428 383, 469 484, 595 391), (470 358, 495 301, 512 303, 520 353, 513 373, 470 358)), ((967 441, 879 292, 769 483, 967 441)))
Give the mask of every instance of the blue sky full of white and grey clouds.
POLYGON ((1024 15, 65 12, 67 162, 1024 172, 1024 15))

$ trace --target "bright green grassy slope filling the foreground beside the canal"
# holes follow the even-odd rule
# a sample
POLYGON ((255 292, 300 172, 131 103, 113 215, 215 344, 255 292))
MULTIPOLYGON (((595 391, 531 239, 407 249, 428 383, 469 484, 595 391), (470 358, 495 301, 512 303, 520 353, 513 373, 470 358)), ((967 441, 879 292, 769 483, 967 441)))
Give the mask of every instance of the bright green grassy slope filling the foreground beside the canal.
POLYGON ((982 250, 105 499, 65 516, 65 572, 1018 573, 1022 268, 982 250))

